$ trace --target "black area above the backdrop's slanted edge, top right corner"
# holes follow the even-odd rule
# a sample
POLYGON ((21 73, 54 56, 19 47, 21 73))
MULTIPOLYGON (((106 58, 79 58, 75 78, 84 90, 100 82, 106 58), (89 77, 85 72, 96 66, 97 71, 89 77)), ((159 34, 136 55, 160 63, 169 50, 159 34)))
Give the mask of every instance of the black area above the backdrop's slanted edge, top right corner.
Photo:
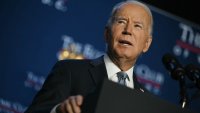
POLYGON ((198 11, 200 10, 196 0, 140 0, 144 3, 153 5, 176 16, 182 17, 193 23, 200 25, 198 11))

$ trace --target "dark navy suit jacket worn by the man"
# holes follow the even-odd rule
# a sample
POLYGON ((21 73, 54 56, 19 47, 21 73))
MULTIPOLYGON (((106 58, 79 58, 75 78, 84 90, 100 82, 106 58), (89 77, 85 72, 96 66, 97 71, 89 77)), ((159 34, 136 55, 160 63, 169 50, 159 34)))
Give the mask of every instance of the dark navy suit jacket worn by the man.
MULTIPOLYGON (((97 94, 105 78, 107 71, 103 57, 95 60, 58 61, 25 113, 50 113, 55 105, 77 94, 86 97, 86 100, 84 99, 86 102, 94 97, 90 105, 95 107, 97 94), (95 96, 91 96, 93 94, 95 96)), ((133 79, 134 89, 141 89, 135 75, 133 79)))

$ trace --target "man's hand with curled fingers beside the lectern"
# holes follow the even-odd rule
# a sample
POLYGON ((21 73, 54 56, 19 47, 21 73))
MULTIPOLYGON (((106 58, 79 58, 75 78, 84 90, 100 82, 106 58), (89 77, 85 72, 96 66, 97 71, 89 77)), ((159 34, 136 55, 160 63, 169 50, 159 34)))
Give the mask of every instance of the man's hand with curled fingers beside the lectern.
POLYGON ((57 108, 58 113, 81 113, 81 105, 83 103, 83 96, 70 96, 64 100, 57 108))

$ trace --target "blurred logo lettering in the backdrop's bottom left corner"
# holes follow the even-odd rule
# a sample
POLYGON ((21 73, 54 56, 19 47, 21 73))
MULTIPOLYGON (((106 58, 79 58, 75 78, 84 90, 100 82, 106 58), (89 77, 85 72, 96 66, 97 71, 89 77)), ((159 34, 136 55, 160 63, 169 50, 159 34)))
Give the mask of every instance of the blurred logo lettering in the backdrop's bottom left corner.
POLYGON ((0 98, 0 113, 23 113, 26 108, 18 102, 10 102, 0 98))

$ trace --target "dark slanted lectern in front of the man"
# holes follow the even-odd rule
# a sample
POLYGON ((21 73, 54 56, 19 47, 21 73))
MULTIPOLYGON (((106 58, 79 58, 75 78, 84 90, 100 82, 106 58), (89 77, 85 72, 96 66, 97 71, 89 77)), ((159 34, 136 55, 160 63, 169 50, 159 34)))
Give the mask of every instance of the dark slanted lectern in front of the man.
MULTIPOLYGON (((92 106, 90 106, 92 107, 92 106)), ((153 94, 104 80, 94 113, 194 113, 153 94)))

